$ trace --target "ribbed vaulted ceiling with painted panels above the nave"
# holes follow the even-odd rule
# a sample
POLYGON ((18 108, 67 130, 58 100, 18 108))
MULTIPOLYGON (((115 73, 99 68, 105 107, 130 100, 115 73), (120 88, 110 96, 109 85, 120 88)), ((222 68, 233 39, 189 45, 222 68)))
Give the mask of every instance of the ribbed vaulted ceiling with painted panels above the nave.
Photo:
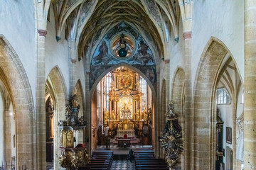
POLYGON ((52 6, 57 40, 65 29, 79 58, 90 57, 92 47, 120 22, 136 29, 161 57, 171 31, 178 41, 177 0, 55 0, 52 6))

